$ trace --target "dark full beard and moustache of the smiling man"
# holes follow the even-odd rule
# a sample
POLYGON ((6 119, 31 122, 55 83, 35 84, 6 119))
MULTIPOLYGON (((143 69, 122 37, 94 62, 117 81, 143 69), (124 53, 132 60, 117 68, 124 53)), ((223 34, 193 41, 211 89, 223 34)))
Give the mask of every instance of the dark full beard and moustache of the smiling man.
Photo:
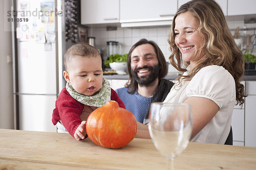
POLYGON ((154 81, 157 79, 159 71, 160 71, 160 67, 158 64, 155 64, 154 67, 146 65, 144 67, 135 68, 134 70, 131 68, 131 75, 134 77, 134 79, 140 86, 148 87, 148 86, 151 86, 154 83, 154 81), (148 75, 139 77, 137 72, 140 69, 146 69, 146 68, 148 68, 151 71, 151 73, 148 75))

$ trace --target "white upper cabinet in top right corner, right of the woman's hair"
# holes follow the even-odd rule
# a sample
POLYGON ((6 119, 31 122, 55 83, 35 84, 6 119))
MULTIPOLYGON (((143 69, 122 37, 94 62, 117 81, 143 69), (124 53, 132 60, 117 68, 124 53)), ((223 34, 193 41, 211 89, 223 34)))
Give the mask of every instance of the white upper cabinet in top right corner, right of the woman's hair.
POLYGON ((227 15, 256 14, 255 0, 228 0, 227 15))

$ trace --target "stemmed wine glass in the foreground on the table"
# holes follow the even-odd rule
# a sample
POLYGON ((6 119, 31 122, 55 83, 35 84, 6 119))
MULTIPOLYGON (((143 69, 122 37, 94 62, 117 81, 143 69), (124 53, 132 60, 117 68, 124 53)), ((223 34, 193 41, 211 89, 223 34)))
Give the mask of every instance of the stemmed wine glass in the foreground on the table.
POLYGON ((167 159, 167 170, 173 170, 173 160, 189 144, 192 133, 192 111, 186 103, 151 104, 149 133, 154 146, 167 159))

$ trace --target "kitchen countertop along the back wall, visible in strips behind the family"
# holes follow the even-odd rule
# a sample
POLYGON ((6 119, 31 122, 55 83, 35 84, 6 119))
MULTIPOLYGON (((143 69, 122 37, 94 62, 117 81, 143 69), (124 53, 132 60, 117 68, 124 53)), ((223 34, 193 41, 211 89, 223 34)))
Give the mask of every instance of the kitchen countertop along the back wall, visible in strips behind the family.
MULTIPOLYGON (((103 77, 105 77, 105 79, 128 79, 129 75, 128 74, 125 74, 125 75, 113 74, 113 75, 103 75, 103 77)), ((175 80, 178 77, 179 77, 178 75, 167 75, 165 77, 165 79, 175 80)), ((243 80, 244 81, 255 81, 256 75, 244 75, 243 80)))

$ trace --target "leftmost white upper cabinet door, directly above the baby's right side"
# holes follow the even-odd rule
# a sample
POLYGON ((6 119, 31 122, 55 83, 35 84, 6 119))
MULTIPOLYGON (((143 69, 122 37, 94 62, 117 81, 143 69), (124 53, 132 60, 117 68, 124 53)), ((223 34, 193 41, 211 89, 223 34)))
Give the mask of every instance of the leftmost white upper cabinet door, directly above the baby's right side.
POLYGON ((81 24, 119 23, 119 0, 81 0, 81 24))

